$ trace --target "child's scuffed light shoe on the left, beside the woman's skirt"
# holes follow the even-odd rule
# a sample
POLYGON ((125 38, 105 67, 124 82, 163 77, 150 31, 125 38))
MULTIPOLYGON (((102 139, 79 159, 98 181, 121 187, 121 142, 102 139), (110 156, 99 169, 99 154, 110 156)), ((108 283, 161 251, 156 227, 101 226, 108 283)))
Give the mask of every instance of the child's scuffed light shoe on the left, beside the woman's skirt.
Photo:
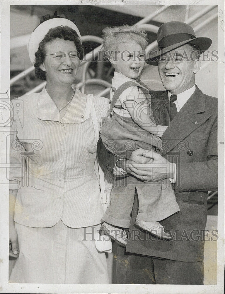
POLYGON ((112 238, 118 244, 120 244, 122 246, 127 245, 127 234, 126 234, 125 230, 123 230, 122 228, 115 227, 115 226, 112 226, 112 225, 104 222, 101 225, 100 230, 104 234, 110 236, 110 238, 112 238))

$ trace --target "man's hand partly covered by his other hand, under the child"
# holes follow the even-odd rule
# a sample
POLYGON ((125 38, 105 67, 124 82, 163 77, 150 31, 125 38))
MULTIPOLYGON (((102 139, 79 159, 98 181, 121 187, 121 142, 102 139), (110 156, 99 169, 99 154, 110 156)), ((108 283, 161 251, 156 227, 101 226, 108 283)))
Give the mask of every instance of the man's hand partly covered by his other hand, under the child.
POLYGON ((148 156, 143 156, 142 154, 148 154, 149 151, 146 149, 139 148, 137 150, 134 150, 131 153, 131 156, 127 160, 118 160, 117 166, 119 168, 122 168, 127 173, 132 173, 132 170, 129 168, 130 164, 144 164, 144 163, 151 163, 153 160, 149 158, 148 156))

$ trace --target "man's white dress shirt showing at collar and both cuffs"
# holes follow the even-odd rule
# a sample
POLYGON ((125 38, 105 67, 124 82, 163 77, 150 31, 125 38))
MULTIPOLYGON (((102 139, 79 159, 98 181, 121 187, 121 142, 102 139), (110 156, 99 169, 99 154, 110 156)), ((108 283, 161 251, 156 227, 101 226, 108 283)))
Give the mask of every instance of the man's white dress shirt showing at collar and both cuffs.
MULTIPOLYGON (((177 94, 177 101, 174 101, 176 107, 177 107, 177 112, 180 111, 180 109, 184 106, 184 104, 187 102, 187 100, 191 97, 191 95, 195 92, 195 85, 189 89, 187 89, 186 91, 180 93, 180 94, 177 94)), ((169 91, 168 91, 168 98, 169 98, 169 101, 170 101, 170 98, 171 98, 171 94, 169 91)), ((121 159, 119 159, 121 160, 121 159)), ((118 160, 117 160, 118 161, 118 160)), ((173 179, 170 178, 170 181, 171 183, 175 183, 176 182, 176 177, 177 177, 177 168, 176 168, 176 164, 174 163, 174 168, 175 168, 175 171, 174 171, 174 177, 173 179)), ((116 175, 116 176, 122 176, 122 175, 125 175, 127 172, 124 171, 122 168, 118 168, 117 165, 114 166, 113 168, 113 174, 116 175)))

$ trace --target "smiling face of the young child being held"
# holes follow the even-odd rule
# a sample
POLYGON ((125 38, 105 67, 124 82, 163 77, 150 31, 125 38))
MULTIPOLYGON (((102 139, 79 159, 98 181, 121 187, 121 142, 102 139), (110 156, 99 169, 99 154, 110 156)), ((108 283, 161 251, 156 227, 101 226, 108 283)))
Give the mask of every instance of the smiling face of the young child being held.
POLYGON ((128 78, 138 78, 145 64, 144 51, 135 41, 118 46, 114 61, 115 71, 128 78))

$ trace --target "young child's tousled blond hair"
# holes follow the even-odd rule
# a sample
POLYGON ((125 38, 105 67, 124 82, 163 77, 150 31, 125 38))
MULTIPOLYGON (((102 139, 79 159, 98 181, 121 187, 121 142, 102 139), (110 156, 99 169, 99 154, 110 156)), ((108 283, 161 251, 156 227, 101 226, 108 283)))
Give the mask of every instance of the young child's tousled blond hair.
POLYGON ((137 42, 142 50, 146 49, 148 42, 146 41, 146 31, 140 29, 138 26, 114 26, 107 27, 103 30, 103 49, 105 51, 112 51, 118 49, 118 44, 129 43, 133 40, 137 42))

